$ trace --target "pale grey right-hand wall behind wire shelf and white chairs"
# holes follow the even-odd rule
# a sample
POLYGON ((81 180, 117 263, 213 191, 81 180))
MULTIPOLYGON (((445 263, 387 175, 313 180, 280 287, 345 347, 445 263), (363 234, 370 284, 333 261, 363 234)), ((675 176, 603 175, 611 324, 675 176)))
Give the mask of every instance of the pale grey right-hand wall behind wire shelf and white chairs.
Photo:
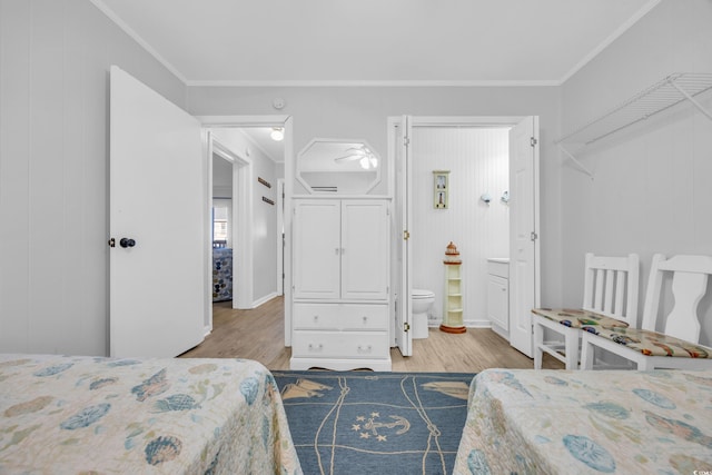
MULTIPOLYGON (((673 72, 712 72, 712 1, 663 0, 562 87, 567 131, 673 72)), ((700 100, 712 110, 712 95, 700 100)), ((562 165, 564 304, 581 305, 583 255, 712 255, 712 120, 689 102, 599 141, 562 165)), ((544 305, 547 305, 545 299, 544 305)), ((701 303, 712 344, 712 297, 701 303)))

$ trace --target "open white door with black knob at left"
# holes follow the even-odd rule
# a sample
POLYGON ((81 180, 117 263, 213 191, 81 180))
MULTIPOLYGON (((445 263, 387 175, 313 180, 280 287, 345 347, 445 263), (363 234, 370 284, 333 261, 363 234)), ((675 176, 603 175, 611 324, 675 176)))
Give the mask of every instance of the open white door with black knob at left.
POLYGON ((117 67, 110 89, 110 354, 174 357, 204 337, 200 123, 117 67))

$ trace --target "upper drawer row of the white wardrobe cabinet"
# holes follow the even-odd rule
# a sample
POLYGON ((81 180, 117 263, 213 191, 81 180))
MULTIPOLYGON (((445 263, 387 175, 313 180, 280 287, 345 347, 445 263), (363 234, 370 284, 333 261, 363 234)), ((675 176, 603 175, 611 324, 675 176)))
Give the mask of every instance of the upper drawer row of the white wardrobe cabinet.
POLYGON ((295 304, 295 329, 386 330, 387 305, 295 304))

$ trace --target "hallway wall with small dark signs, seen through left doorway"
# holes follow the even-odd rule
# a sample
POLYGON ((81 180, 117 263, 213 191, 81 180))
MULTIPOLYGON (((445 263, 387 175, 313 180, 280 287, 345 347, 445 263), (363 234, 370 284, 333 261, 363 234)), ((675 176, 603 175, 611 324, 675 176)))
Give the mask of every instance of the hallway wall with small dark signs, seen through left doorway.
MULTIPOLYGON (((260 303, 277 293, 277 174, 278 167, 258 147, 255 147, 239 129, 211 129, 217 140, 229 148, 235 155, 247 161, 250 177, 248 178, 253 202, 253 303, 260 303), (268 188, 257 181, 264 178, 271 187, 268 188), (263 201, 266 197, 275 202, 263 201)), ((239 194, 239 192, 238 192, 239 194)), ((236 206, 236 204, 234 204, 236 206)), ((238 232, 233 232, 237 239, 238 232)), ((237 244, 234 244, 236 247, 237 244)), ((235 260, 234 260, 235 261, 235 260)), ((237 274, 237 273, 236 273, 237 274)))

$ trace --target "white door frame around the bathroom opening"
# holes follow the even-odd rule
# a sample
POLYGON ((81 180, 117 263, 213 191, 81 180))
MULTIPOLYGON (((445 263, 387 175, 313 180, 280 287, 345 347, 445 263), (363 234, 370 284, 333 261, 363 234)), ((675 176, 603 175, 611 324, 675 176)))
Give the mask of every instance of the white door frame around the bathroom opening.
MULTIPOLYGON (((416 128, 416 127, 446 127, 446 126, 452 126, 452 127, 457 127, 457 126, 469 126, 469 127, 487 127, 487 126, 502 126, 502 127, 513 127, 516 126, 517 123, 520 123, 522 120, 524 120, 525 118, 531 117, 531 116, 464 116, 464 117, 458 117, 458 116, 409 116, 411 118, 411 127, 412 128, 416 128)), ((396 137, 396 131, 395 131, 395 127, 400 125, 402 122, 402 117, 389 117, 388 118, 388 140, 389 144, 395 141, 395 137, 396 137)), ((389 151, 390 151, 392 147, 389 147, 389 151)), ((392 157, 393 158, 393 157, 392 157)), ((533 229, 533 231, 535 231, 536 234, 538 234, 538 229, 540 229, 540 209, 538 209, 538 202, 540 202, 540 174, 538 174, 538 154, 535 157, 535 164, 534 164, 534 169, 535 169, 535 177, 534 177, 534 204, 535 204, 535 209, 534 209, 534 221, 535 221, 535 229, 533 229)), ((394 164, 393 159, 388 160, 388 178, 389 178, 389 189, 395 189, 395 171, 396 171, 396 167, 394 164)), ((535 241, 535 248, 534 248, 534 275, 535 275, 535 281, 534 281, 534 295, 535 295, 535 300, 536 303, 540 301, 540 294, 541 294, 541 259, 540 259, 540 239, 536 239, 535 241)), ((392 286, 394 288, 396 288, 397 283, 392 283, 392 286)), ((394 336, 392 336, 392 345, 395 344, 395 334, 393 334, 394 336)))

